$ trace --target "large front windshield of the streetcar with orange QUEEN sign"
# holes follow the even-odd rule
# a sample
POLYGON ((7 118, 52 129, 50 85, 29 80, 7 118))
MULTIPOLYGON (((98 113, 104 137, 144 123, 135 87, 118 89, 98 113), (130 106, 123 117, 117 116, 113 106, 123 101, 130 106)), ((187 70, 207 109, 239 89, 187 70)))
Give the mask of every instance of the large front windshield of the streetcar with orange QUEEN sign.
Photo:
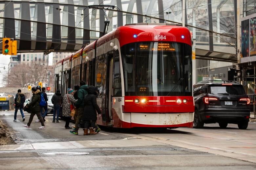
POLYGON ((135 42, 121 47, 125 95, 190 96, 191 46, 135 42))

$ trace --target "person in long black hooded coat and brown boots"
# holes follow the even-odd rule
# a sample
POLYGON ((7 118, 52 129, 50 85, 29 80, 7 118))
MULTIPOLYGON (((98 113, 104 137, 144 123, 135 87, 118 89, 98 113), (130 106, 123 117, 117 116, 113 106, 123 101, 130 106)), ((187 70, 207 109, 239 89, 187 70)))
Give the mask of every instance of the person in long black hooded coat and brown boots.
POLYGON ((84 130, 84 135, 94 135, 97 134, 97 132, 94 131, 96 120, 97 120, 97 114, 101 114, 101 111, 99 109, 99 106, 97 105, 96 102, 96 95, 98 93, 97 88, 95 86, 90 86, 87 89, 88 94, 84 96, 84 111, 83 111, 83 116, 81 117, 83 122, 83 130, 84 130), (89 133, 88 133, 88 128, 89 128, 89 133))

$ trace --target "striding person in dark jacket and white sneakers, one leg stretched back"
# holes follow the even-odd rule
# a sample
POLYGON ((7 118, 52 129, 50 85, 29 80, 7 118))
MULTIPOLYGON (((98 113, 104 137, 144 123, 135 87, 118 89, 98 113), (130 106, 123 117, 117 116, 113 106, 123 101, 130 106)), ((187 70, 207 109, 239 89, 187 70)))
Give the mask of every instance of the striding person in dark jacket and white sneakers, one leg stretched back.
POLYGON ((41 92, 39 89, 36 89, 35 87, 33 87, 31 89, 33 95, 32 95, 32 99, 30 101, 30 103, 26 106, 26 108, 30 108, 31 110, 31 114, 30 114, 30 118, 29 118, 29 122, 26 125, 23 125, 24 127, 30 128, 30 125, 32 123, 32 120, 34 118, 34 115, 36 114, 37 118, 40 120, 41 122, 41 127, 39 127, 39 129, 45 129, 44 126, 44 121, 43 118, 41 116, 40 113, 40 101, 41 101, 41 92))

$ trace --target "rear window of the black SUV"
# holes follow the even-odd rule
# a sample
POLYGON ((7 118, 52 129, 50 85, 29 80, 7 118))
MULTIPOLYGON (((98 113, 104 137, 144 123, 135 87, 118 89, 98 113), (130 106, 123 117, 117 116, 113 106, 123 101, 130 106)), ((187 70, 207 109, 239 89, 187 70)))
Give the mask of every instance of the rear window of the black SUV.
POLYGON ((215 95, 220 95, 220 94, 244 95, 244 94, 246 94, 242 85, 210 86, 209 93, 215 94, 215 95))

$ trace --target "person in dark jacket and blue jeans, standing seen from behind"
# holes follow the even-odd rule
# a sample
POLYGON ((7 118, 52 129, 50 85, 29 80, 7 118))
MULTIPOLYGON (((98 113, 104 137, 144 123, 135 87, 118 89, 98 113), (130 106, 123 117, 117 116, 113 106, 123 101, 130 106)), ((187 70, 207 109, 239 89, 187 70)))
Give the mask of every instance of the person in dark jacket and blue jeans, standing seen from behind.
POLYGON ((56 93, 53 94, 52 97, 52 103, 53 103, 53 123, 55 123, 55 116, 56 116, 56 123, 59 123, 59 112, 62 106, 62 102, 63 102, 63 96, 60 93, 60 90, 57 89, 56 93))

